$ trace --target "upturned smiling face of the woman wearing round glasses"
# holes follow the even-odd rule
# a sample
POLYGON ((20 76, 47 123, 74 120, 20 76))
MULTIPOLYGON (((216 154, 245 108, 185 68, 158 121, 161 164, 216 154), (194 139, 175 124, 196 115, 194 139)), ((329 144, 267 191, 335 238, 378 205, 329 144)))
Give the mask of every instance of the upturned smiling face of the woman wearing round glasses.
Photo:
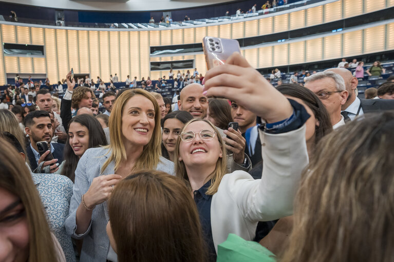
POLYGON ((218 134, 212 140, 205 141, 197 134, 201 130, 215 130, 204 121, 195 121, 190 123, 183 132, 193 131, 195 137, 192 142, 184 142, 180 140, 179 144, 179 157, 183 161, 186 169, 196 165, 204 165, 207 168, 215 167, 219 157, 222 157, 222 150, 218 134))

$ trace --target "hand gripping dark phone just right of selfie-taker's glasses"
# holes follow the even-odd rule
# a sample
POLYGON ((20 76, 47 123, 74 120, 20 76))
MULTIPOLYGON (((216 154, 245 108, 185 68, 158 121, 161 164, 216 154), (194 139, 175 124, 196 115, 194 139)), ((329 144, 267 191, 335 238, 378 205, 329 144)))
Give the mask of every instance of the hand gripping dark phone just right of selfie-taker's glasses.
POLYGON ((243 159, 245 156, 243 153, 245 152, 246 140, 242 137, 242 134, 239 130, 234 130, 233 128, 229 128, 229 130, 223 130, 224 134, 228 135, 230 138, 223 136, 223 140, 226 143, 226 148, 233 152, 234 162, 237 164, 243 164, 243 159))

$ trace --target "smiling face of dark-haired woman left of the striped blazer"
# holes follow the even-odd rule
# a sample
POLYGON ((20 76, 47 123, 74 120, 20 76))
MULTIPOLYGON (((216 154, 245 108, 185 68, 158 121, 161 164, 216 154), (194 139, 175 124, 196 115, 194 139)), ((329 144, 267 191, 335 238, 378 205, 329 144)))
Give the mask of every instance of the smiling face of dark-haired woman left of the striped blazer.
POLYGON ((68 129, 68 136, 74 154, 81 157, 89 148, 89 130, 80 123, 72 122, 68 129))

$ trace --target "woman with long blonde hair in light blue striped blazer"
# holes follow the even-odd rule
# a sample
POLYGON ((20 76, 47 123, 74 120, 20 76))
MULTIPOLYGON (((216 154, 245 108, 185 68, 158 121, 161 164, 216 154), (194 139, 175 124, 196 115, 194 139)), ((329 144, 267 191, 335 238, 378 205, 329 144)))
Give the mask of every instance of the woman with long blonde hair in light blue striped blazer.
POLYGON ((174 164, 160 156, 160 111, 156 99, 142 89, 127 90, 109 117, 111 144, 86 150, 75 172, 66 230, 84 239, 81 261, 117 261, 105 233, 107 199, 116 184, 137 169, 174 174, 174 164))

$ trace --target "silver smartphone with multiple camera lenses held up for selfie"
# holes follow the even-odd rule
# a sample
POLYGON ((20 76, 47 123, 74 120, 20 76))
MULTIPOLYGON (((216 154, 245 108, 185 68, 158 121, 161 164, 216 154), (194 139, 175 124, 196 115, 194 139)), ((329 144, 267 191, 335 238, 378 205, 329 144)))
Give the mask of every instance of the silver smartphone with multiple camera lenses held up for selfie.
POLYGON ((208 70, 223 65, 234 52, 241 53, 239 43, 235 39, 205 36, 202 39, 202 48, 208 70))

